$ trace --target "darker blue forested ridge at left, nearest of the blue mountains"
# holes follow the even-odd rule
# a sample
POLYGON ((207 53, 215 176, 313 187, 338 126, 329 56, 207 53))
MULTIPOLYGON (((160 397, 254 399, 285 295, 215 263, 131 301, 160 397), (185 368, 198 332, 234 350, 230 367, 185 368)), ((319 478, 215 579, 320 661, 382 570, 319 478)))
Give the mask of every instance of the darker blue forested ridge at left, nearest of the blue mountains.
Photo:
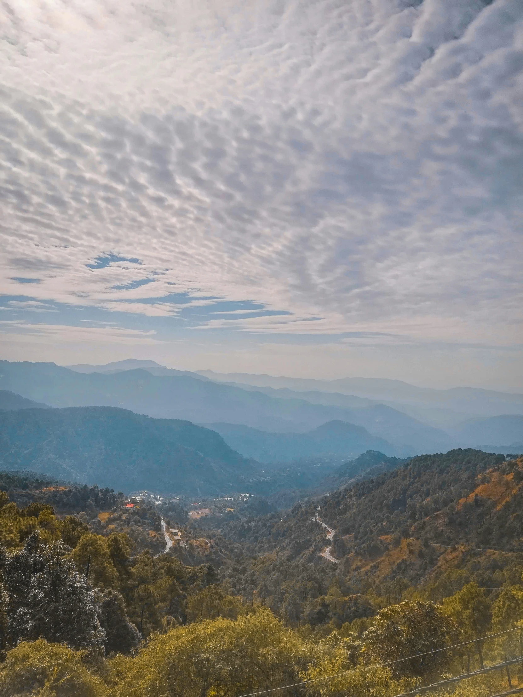
POLYGON ((214 431, 96 406, 0 412, 0 468, 190 496, 241 491, 254 471, 214 431))

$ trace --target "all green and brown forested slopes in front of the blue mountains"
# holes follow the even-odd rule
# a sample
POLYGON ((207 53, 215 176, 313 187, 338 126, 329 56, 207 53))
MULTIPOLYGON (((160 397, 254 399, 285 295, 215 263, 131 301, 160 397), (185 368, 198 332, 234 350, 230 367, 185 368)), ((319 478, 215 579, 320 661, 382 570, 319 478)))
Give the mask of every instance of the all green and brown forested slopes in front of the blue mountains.
MULTIPOLYGON (((0 694, 237 697, 304 682, 280 692, 395 697, 503 664, 521 655, 522 480, 522 459, 419 457, 287 514, 224 519, 205 537, 204 519, 182 516, 182 540, 160 556, 135 533, 140 521, 160 527, 154 507, 126 512, 119 494, 92 488, 91 503, 112 508, 91 506, 88 519, 19 508, 3 491, 0 694), (317 515, 340 533, 339 563, 320 556, 317 515)), ((0 486, 63 490, 24 473, 0 486)), ((453 697, 507 691, 508 675, 523 680, 520 659, 509 671, 468 677, 453 697)))

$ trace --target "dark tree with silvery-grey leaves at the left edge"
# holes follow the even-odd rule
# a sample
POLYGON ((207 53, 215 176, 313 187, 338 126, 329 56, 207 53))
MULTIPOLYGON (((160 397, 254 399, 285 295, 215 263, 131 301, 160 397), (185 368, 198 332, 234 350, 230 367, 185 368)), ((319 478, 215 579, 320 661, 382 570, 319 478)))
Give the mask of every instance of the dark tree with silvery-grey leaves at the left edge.
POLYGON ((22 551, 1 554, 10 645, 40 637, 79 647, 103 644, 93 593, 67 551, 62 542, 40 544, 33 533, 22 551))

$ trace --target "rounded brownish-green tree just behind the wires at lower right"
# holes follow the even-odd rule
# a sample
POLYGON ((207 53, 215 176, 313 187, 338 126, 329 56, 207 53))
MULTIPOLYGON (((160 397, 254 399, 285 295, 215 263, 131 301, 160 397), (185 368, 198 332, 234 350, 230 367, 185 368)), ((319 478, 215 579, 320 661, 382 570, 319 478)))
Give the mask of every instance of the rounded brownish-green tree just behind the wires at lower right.
MULTIPOLYGON (((443 648, 452 632, 453 623, 437 605, 404 601, 380 610, 363 640, 371 661, 387 663, 443 648)), ((430 675, 441 672, 448 660, 448 652, 441 651, 404 661, 392 671, 395 675, 430 675)))

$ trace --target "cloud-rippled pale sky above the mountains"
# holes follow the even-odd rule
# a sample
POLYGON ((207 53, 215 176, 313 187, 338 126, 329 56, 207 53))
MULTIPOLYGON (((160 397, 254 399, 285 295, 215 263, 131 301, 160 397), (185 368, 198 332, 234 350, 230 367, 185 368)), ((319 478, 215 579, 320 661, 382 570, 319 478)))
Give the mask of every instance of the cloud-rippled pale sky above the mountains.
POLYGON ((0 358, 523 392, 521 0, 6 0, 0 358))

